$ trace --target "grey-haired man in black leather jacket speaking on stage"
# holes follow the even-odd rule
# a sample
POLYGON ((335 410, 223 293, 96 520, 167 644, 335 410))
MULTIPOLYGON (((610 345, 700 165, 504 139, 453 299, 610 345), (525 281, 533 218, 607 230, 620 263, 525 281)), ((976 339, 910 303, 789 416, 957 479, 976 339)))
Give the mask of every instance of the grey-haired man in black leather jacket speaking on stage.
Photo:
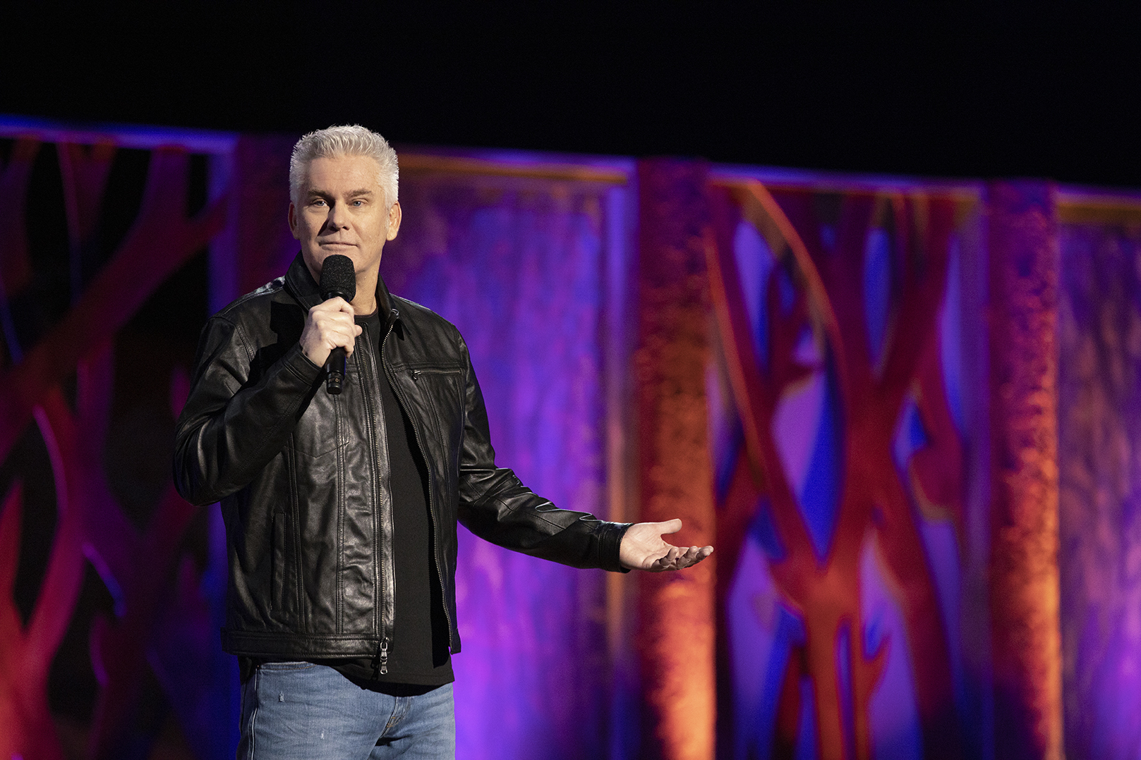
POLYGON ((576 567, 680 570, 713 549, 662 540, 680 521, 557 509, 495 466, 463 338, 380 279, 400 227, 383 138, 305 136, 290 197, 301 252, 208 321, 176 440, 179 493, 221 501, 226 522, 238 757, 453 757, 458 522, 576 567), (321 296, 333 254, 353 262, 350 302, 321 296), (331 394, 338 348, 347 371, 331 394))

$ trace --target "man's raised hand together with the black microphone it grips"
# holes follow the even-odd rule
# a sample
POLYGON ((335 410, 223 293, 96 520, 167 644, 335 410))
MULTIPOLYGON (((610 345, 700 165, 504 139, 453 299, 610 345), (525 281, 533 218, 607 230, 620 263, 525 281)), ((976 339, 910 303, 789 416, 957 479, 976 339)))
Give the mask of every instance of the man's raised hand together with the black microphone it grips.
POLYGON ((345 382, 345 360, 353 353, 361 327, 353 321, 356 271, 353 260, 334 254, 321 265, 322 303, 309 310, 301 330, 301 350, 315 365, 324 365, 325 390, 337 394, 345 382))

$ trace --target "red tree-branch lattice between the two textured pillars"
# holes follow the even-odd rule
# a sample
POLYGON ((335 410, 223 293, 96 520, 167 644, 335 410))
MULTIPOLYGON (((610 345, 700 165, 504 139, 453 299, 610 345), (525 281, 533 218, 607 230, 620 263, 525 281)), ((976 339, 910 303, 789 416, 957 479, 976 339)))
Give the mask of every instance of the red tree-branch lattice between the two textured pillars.
POLYGON ((817 742, 823 758, 868 758, 868 708, 890 640, 866 653, 860 612, 860 555, 868 542, 895 583, 904 613, 916 700, 928 758, 955 758, 962 736, 955 712, 950 654, 937 588, 913 502, 948 515, 962 530, 962 441, 944 397, 937 329, 946 287, 955 202, 949 197, 845 193, 839 198, 835 240, 825 245, 818 198, 803 189, 766 189, 737 182, 719 190, 719 235, 707 251, 712 301, 734 402, 744 431, 734 475, 721 505, 719 598, 734 575, 758 496, 766 495, 784 556, 771 563, 784 603, 801 616, 807 638, 785 672, 777 710, 774 757, 792 757, 801 713, 799 683, 814 685, 817 742), (756 356, 736 273, 734 219, 766 237, 795 286, 784 308, 778 278, 769 278, 766 361, 756 356), (891 230, 893 314, 879 363, 869 351, 863 293, 866 240, 873 228, 891 230), (835 377, 843 431, 841 492, 827 554, 818 557, 782 465, 774 415, 782 395, 811 371, 796 358, 804 330, 817 335, 835 377), (926 446, 907 464, 905 480, 892 443, 908 394, 914 397, 926 446), (847 641, 850 694, 836 648, 847 641), (850 700, 850 725, 843 703, 850 700))

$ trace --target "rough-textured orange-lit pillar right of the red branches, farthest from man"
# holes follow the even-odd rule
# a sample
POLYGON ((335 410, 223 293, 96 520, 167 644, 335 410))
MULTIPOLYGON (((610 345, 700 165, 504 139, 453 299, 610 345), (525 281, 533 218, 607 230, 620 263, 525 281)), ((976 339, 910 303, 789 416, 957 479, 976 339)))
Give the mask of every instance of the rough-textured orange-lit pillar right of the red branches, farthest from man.
POLYGON ((992 182, 990 627, 997 757, 1062 757, 1054 188, 992 182))

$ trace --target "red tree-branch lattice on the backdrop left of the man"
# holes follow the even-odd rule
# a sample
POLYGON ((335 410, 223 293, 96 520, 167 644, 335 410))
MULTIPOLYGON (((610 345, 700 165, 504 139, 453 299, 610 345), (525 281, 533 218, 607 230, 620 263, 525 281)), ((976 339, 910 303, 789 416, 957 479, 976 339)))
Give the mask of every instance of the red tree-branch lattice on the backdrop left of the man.
MULTIPOLYGON (((70 247, 89 243, 97 227, 113 144, 94 147, 57 144, 70 247)), ((30 281, 25 226, 31 166, 42 146, 18 140, 0 175, 0 272, 3 309, 30 281)), ((84 563, 90 562, 115 598, 115 618, 91 631, 92 665, 100 683, 88 757, 137 753, 133 717, 141 671, 149 667, 167 687, 180 717, 202 698, 187 660, 209 660, 211 638, 199 629, 209 621, 193 565, 180 559, 180 541, 194 508, 169 485, 140 532, 107 485, 103 449, 114 378, 115 333, 172 272, 226 223, 225 198, 191 218, 186 213, 189 156, 176 147, 152 152, 143 202, 130 231, 67 312, 24 350, 6 334, 11 363, 0 373, 0 460, 34 418, 48 447, 56 480, 59 518, 34 612, 24 626, 11 602, 19 557, 22 490, 17 483, 0 514, 0 757, 62 758, 48 713, 47 675, 72 616, 84 563), (74 408, 62 383, 75 376, 74 408), (177 573, 176 573, 177 569, 177 573), (201 621, 183 627, 188 621, 201 621), (172 629, 178 636, 169 636, 172 629), (169 667, 178 663, 178 667, 169 667), (135 747, 132 750, 132 747, 135 747)), ((186 395, 185 374, 171 378, 177 414, 186 395)), ((212 635, 210 635, 212 636, 212 635)), ((191 724, 193 726, 193 724, 191 724)), ((208 732, 209 726, 202 726, 208 732)), ((191 732, 187 732, 191 734, 191 732)))

